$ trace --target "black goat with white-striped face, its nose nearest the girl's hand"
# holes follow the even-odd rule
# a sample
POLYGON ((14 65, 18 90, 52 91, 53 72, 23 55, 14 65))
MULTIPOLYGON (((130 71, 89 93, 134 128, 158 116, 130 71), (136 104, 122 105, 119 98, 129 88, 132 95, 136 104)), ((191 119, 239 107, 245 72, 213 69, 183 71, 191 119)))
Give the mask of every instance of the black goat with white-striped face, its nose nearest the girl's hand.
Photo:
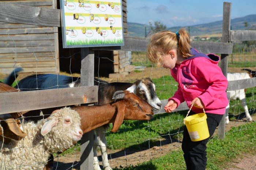
MULTIPOLYGON (((17 75, 20 68, 16 68, 15 74, 17 75)), ((13 72, 14 72, 13 71, 13 72)), ((13 72, 7 77, 5 83, 12 84, 10 80, 15 80, 10 76, 14 76, 13 72)), ((162 103, 155 93, 155 84, 150 78, 140 79, 134 83, 123 83, 114 82, 108 83, 101 79, 94 78, 94 85, 98 86, 98 104, 102 105, 105 103, 112 102, 112 96, 115 91, 118 90, 128 90, 138 95, 140 98, 146 100, 154 110, 160 110, 162 108, 162 103)), ((31 75, 19 81, 16 88, 22 91, 30 90, 43 90, 52 88, 65 88, 65 87, 79 87, 80 78, 70 77, 65 75, 56 74, 39 74, 31 75)), ((105 137, 105 131, 108 126, 102 126, 95 129, 95 141, 94 141, 94 169, 100 170, 99 161, 97 157, 97 147, 99 146, 102 153, 103 169, 111 170, 108 154, 106 151, 107 142, 105 137)))

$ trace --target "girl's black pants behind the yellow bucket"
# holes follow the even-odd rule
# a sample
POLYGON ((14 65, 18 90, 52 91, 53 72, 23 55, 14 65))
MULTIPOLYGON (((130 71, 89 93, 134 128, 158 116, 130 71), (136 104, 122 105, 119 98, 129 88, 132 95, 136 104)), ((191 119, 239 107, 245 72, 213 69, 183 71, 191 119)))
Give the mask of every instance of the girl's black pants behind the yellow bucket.
MULTIPOLYGON (((195 112, 190 112, 189 115, 196 114, 195 112)), ((206 113, 207 115, 207 125, 210 133, 210 137, 214 133, 216 127, 221 122, 223 115, 206 113)), ((202 141, 192 142, 187 127, 185 126, 182 139, 182 151, 184 152, 184 159, 188 170, 205 170, 206 169, 206 143, 210 139, 204 139, 202 141)))

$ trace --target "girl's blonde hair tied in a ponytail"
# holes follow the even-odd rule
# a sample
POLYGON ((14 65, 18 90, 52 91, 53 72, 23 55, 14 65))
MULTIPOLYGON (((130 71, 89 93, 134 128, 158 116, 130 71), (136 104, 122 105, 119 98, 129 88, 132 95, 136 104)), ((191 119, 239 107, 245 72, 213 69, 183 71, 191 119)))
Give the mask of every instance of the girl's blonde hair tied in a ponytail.
POLYGON ((192 56, 188 31, 181 28, 178 34, 180 35, 179 38, 175 32, 167 30, 154 33, 150 37, 150 42, 147 46, 148 59, 152 63, 156 63, 157 66, 162 66, 162 56, 168 54, 172 49, 177 49, 177 54, 183 58, 192 56))

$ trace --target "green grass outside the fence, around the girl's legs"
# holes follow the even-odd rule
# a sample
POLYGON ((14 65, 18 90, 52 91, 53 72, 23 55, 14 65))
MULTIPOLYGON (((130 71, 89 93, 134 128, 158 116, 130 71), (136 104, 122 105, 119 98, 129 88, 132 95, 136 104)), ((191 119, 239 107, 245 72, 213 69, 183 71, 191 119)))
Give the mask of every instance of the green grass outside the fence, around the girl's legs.
MULTIPOLYGON (((207 143, 208 170, 220 170, 229 167, 230 163, 244 153, 256 154, 256 122, 234 127, 226 134, 225 139, 211 138, 207 143)), ((185 170, 185 161, 181 150, 171 151, 163 157, 140 163, 136 166, 116 167, 114 170, 185 170)))

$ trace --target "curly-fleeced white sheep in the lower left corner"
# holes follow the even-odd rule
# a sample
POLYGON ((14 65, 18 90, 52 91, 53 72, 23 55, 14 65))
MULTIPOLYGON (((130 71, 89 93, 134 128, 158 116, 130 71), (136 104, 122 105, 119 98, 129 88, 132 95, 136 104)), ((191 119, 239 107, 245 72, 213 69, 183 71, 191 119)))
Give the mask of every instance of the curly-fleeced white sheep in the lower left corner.
POLYGON ((43 169, 50 154, 68 149, 82 138, 80 125, 78 112, 68 107, 37 123, 23 123, 27 136, 3 145, 0 169, 43 169))

